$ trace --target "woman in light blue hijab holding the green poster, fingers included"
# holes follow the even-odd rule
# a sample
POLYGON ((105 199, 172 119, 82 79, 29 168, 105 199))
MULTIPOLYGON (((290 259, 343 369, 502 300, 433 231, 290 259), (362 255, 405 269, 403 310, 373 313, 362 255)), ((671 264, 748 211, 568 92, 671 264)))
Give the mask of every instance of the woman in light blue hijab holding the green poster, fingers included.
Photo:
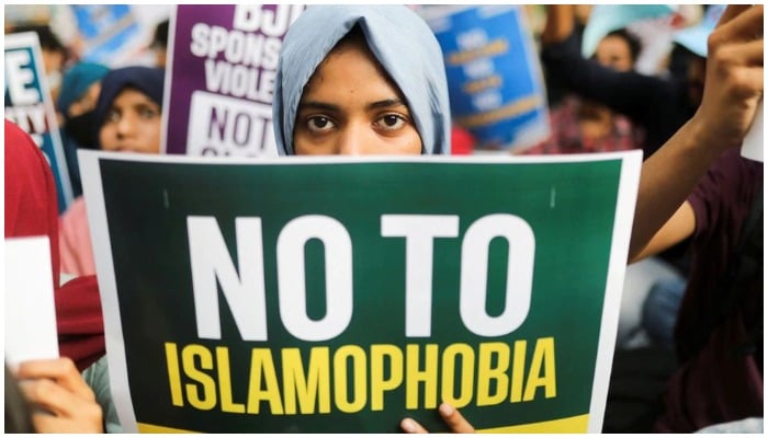
MULTIPOLYGON (((405 7, 307 8, 285 35, 272 112, 282 155, 451 152, 442 51, 405 7)), ((474 430, 448 404, 439 412, 452 430, 474 430)))

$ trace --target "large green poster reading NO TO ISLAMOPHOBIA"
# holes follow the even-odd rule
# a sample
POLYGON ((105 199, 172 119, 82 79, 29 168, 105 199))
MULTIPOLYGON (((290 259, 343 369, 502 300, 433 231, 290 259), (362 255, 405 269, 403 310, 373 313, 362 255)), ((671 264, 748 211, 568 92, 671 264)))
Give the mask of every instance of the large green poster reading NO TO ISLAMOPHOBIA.
POLYGON ((125 431, 599 433, 641 160, 80 151, 125 431))

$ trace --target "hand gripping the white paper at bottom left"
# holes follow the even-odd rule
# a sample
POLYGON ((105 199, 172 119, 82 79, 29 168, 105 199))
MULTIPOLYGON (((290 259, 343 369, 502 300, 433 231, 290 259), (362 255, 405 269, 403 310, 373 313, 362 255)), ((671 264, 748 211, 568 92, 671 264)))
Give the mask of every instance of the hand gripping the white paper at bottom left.
POLYGON ((15 372, 37 433, 100 434, 101 406, 69 358, 27 360, 15 372))

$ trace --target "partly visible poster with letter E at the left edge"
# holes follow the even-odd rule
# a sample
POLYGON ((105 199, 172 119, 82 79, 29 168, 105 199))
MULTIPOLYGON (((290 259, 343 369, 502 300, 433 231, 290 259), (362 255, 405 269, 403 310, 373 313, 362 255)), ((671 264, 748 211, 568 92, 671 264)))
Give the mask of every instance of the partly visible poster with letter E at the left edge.
POLYGON ((5 118, 27 132, 48 159, 64 212, 72 201, 72 187, 37 34, 5 35, 4 64, 5 118))

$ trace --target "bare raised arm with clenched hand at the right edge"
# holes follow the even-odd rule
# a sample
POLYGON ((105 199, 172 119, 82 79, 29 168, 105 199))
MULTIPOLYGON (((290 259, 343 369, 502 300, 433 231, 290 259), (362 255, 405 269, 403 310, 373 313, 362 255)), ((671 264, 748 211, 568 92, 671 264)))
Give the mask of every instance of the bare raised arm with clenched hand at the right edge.
POLYGON ((730 5, 708 54, 701 106, 643 164, 630 262, 693 232, 687 196, 712 162, 744 139, 763 96, 763 5, 730 5))

